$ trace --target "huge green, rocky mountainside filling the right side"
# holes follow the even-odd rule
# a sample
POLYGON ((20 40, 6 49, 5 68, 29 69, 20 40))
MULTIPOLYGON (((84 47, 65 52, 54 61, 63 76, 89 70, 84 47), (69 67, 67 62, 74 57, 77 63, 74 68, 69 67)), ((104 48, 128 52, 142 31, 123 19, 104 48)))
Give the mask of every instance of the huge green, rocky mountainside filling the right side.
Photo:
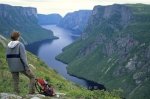
POLYGON ((150 99, 150 5, 95 6, 82 37, 57 56, 68 73, 150 99))

